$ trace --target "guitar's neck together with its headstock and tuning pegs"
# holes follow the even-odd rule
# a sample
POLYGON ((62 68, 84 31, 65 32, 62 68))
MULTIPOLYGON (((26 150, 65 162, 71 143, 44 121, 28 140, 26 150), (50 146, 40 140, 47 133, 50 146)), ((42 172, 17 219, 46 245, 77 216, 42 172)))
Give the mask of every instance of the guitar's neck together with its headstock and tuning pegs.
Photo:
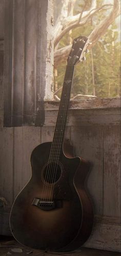
MULTIPOLYGON (((63 91, 59 105, 57 122, 54 131, 53 142, 51 145, 49 161, 58 161, 63 150, 64 132, 67 121, 67 111, 69 108, 71 85, 73 80, 74 66, 82 61, 83 54, 89 44, 89 39, 85 36, 80 36, 74 39, 72 48, 67 59, 66 73, 63 83, 63 91)), ((84 58, 85 59, 85 58, 84 58)))

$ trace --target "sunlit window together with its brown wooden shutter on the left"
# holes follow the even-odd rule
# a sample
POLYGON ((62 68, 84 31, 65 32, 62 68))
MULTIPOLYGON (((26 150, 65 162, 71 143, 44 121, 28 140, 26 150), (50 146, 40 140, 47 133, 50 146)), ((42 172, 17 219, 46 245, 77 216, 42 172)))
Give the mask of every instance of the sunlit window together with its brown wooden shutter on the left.
POLYGON ((91 31, 90 40, 97 42, 86 62, 75 67, 71 98, 120 96, 117 6, 106 1, 96 5, 96 1, 54 0, 53 22, 52 3, 5 0, 4 126, 44 125, 44 101, 60 98, 73 39, 91 31), (115 16, 110 15, 108 26, 104 22, 103 35, 100 22, 109 12, 115 16))

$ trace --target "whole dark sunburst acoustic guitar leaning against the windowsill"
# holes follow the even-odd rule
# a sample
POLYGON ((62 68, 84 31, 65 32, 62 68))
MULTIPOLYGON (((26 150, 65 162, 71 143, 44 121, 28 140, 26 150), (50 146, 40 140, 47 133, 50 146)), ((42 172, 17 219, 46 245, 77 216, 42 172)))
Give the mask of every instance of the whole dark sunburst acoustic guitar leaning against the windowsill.
POLYGON ((11 232, 28 247, 74 250, 86 242, 92 230, 93 209, 85 188, 90 164, 73 157, 72 146, 64 143, 74 66, 84 58, 88 44, 84 36, 73 41, 53 141, 32 151, 31 178, 11 209, 11 232))

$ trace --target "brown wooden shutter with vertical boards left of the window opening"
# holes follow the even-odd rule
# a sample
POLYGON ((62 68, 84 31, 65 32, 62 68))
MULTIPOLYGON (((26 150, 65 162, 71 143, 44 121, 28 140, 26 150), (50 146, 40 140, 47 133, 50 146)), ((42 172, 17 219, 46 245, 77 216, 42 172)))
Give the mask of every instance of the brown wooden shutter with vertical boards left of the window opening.
POLYGON ((48 3, 47 0, 5 0, 6 127, 44 125, 48 62, 52 65, 47 59, 48 3))

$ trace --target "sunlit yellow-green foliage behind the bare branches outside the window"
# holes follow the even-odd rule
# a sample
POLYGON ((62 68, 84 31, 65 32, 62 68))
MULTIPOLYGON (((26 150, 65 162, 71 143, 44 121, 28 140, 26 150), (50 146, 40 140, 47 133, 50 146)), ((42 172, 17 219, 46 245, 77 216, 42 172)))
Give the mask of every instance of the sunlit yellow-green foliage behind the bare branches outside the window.
MULTIPOLYGON (((98 1, 98 3, 100 2, 98 1)), ((82 8, 82 6, 79 6, 78 8, 82 8)), ((99 13, 99 15, 93 19, 101 20, 102 15, 99 13)), ((93 28, 93 21, 91 21, 83 27, 73 29, 71 37, 74 39, 80 35, 88 36, 93 28)), ((92 48, 94 84, 92 81, 91 51, 86 54, 85 62, 80 62, 75 66, 73 87, 71 91, 72 97, 76 94, 93 95, 94 87, 95 95, 97 97, 106 98, 120 96, 120 43, 117 38, 117 26, 113 23, 107 29, 105 36, 103 36, 92 48)), ((59 47, 61 48, 66 45, 68 45, 68 34, 66 34, 60 41, 59 47)), ((66 63, 57 67, 57 77, 55 77, 54 81, 57 82, 58 88, 62 87, 65 67, 66 63)), ((60 96, 60 92, 58 92, 57 95, 60 96)))

